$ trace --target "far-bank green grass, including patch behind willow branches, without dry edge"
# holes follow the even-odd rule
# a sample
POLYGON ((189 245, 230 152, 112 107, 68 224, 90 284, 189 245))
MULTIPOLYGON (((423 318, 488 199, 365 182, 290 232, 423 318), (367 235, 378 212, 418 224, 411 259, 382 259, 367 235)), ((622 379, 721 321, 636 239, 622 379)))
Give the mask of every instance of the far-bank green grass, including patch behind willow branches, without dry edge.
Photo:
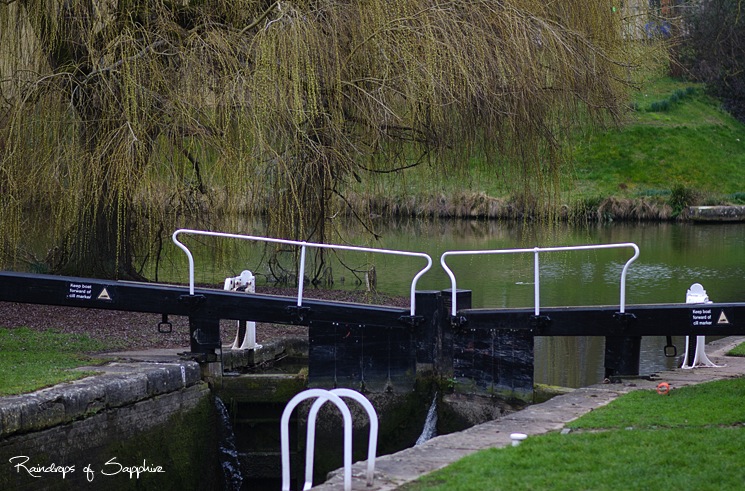
MULTIPOLYGON (((587 131, 571 142, 563 202, 666 201, 676 187, 695 190, 698 204, 745 202, 745 124, 723 111, 701 84, 667 76, 649 77, 644 84, 632 94, 636 110, 620 127, 587 131)), ((394 200, 468 193, 509 199, 515 189, 508 171, 476 156, 445 172, 420 165, 403 175, 369 175, 352 191, 394 200)))

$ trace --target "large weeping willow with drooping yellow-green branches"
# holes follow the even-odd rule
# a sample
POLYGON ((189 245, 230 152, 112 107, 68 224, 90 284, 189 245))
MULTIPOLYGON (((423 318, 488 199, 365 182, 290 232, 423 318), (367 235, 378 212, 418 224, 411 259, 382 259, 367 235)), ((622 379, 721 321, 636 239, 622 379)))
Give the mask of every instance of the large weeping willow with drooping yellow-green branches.
POLYGON ((5 257, 31 209, 82 275, 137 276, 167 211, 323 241, 346 180, 472 149, 551 195, 566 132, 625 100, 613 4, 0 0, 5 257))

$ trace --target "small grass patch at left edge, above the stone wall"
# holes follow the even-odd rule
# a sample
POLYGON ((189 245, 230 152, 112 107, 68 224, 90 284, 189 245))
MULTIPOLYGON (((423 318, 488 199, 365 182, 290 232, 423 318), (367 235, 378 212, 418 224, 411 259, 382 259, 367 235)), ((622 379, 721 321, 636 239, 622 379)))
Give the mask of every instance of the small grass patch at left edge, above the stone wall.
POLYGON ((28 328, 0 328, 0 396, 32 392, 60 382, 86 377, 91 372, 75 367, 101 363, 86 353, 100 351, 102 343, 87 336, 28 328))

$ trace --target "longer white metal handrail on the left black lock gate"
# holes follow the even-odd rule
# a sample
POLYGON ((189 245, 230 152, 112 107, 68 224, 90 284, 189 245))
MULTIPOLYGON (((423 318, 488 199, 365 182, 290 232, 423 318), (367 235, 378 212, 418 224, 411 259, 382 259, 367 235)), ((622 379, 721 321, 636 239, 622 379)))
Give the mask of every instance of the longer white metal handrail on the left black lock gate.
POLYGON ((211 232, 208 230, 192 230, 182 228, 176 230, 173 233, 173 242, 186 253, 189 259, 189 295, 194 295, 194 256, 191 251, 182 242, 178 240, 178 236, 181 234, 192 234, 192 235, 206 235, 210 237, 223 237, 229 239, 242 239, 242 240, 253 240, 257 242, 270 242, 275 244, 287 244, 300 247, 300 271, 298 271, 298 294, 297 294, 297 306, 302 307, 303 305, 303 282, 305 277, 305 250, 307 247, 315 247, 318 249, 339 249, 346 251, 357 251, 357 252, 371 252, 376 254, 391 254, 396 256, 409 256, 409 257, 421 257, 427 260, 427 266, 419 271, 414 279, 411 280, 411 315, 414 316, 416 312, 415 307, 415 294, 416 294, 416 283, 424 273, 429 271, 432 267, 432 258, 429 254, 423 252, 411 252, 411 251, 396 251, 392 249, 375 249, 371 247, 358 247, 358 246, 345 246, 338 244, 320 244, 317 242, 305 242, 288 239, 276 239, 272 237, 257 237, 253 235, 242 235, 242 234, 229 234, 225 232, 211 232))

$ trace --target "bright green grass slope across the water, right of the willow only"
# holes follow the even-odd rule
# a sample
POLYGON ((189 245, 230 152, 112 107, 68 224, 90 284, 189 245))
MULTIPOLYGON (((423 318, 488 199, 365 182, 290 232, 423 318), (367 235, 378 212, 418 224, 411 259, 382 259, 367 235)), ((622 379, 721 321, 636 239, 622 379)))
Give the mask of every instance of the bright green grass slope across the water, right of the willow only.
MULTIPOLYGON (((671 94, 695 88, 677 85, 671 94)), ((745 125, 718 105, 696 89, 666 111, 636 111, 624 127, 593 133, 575 147, 577 193, 634 197, 678 185, 726 201, 743 192, 745 125)))

